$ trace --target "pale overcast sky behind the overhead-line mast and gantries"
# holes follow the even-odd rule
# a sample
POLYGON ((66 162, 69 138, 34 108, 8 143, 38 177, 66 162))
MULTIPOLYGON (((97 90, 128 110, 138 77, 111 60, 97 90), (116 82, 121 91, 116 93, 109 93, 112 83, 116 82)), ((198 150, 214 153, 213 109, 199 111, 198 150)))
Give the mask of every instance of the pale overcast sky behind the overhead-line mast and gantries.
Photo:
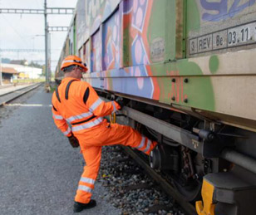
MULTIPOLYGON (((76 7, 77 0, 47 0, 47 7, 76 7)), ((44 0, 0 0, 0 8, 43 9, 44 0)), ((71 15, 48 15, 49 26, 69 26, 71 15)), ((0 13, 1 49, 44 49, 44 16, 0 13)), ((55 71, 67 32, 51 32, 52 70, 55 71)), ((44 64, 45 54, 36 52, 1 52, 2 58, 26 59, 44 64)))

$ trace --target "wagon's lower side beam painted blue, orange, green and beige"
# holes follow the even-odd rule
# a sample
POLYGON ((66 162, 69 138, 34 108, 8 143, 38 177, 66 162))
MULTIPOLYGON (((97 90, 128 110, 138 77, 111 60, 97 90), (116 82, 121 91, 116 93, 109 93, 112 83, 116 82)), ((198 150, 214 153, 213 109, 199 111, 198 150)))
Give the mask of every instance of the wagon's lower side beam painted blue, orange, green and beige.
MULTIPOLYGON (((174 63, 132 66, 91 73, 86 81, 97 88, 157 100, 168 105, 189 106, 256 120, 255 55, 255 50, 249 50, 174 63), (242 59, 245 62, 243 65, 239 63, 242 59), (228 76, 230 71, 236 76, 228 76), (103 81, 97 81, 96 85, 98 77, 103 81), (235 96, 230 96, 230 93, 235 96), (244 111, 247 108, 251 111, 244 111)), ((249 127, 256 129, 255 124, 249 124, 249 127)))

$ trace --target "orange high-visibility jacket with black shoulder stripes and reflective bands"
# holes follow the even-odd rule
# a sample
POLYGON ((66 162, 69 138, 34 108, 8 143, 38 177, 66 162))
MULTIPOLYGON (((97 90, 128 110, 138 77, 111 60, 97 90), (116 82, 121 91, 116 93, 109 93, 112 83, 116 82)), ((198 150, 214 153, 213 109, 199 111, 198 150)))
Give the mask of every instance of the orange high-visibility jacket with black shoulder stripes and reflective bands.
POLYGON ((87 82, 70 77, 64 78, 52 95, 52 117, 67 137, 71 131, 81 134, 100 125, 104 116, 120 108, 116 101, 101 100, 87 82))

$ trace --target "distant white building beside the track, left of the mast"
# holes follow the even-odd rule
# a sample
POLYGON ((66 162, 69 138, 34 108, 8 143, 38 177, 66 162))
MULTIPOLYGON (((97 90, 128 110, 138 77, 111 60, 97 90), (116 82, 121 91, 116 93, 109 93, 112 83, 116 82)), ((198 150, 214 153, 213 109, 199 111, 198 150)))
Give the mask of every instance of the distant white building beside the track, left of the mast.
POLYGON ((2 67, 14 69, 19 74, 17 77, 22 79, 26 79, 26 78, 37 79, 42 76, 42 69, 32 67, 32 66, 2 63, 2 67))

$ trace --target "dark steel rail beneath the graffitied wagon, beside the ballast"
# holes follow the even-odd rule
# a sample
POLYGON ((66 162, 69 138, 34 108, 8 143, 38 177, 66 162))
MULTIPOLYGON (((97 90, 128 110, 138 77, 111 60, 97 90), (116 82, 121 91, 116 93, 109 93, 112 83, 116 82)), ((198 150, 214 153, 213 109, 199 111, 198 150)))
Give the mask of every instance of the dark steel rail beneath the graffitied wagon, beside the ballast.
POLYGON ((127 154, 130 155, 132 159, 135 159, 135 161, 143 168, 145 169, 145 172, 150 175, 151 178, 155 180, 156 183, 160 184, 160 187, 164 190, 166 194, 171 196, 172 198, 175 198, 177 203, 180 204, 181 208, 183 208, 186 213, 189 213, 190 215, 196 215, 195 208, 191 203, 188 203, 185 201, 185 198, 178 193, 175 188, 173 188, 168 181, 165 180, 165 178, 162 178, 159 173, 156 173, 154 169, 151 169, 149 164, 147 164, 144 159, 140 158, 140 155, 135 153, 133 149, 130 149, 128 147, 122 147, 127 154))

